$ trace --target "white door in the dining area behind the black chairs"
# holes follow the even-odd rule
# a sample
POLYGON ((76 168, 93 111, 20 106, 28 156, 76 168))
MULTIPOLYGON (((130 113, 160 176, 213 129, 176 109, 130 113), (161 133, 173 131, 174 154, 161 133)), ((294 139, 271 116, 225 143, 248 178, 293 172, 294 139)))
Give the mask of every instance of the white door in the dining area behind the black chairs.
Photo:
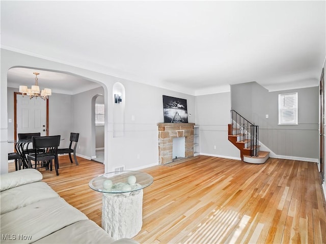
POLYGON ((17 139, 18 133, 46 136, 46 129, 46 101, 17 95, 17 139))

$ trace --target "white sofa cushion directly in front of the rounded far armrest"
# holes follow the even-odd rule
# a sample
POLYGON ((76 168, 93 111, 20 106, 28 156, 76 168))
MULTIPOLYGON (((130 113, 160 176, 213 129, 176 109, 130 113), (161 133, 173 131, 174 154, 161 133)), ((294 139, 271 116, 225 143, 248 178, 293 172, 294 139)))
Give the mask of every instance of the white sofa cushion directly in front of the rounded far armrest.
POLYGON ((0 193, 1 214, 51 197, 59 197, 59 195, 43 181, 2 191, 0 193))

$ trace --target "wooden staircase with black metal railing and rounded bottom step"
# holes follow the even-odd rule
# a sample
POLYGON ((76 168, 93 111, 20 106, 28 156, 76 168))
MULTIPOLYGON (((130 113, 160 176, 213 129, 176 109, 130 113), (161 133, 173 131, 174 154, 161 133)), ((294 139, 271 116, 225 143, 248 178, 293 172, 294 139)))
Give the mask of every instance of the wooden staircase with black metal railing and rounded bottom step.
POLYGON ((231 110, 231 124, 228 125, 228 139, 240 150, 242 161, 252 164, 263 164, 269 158, 268 151, 261 151, 259 127, 231 110))

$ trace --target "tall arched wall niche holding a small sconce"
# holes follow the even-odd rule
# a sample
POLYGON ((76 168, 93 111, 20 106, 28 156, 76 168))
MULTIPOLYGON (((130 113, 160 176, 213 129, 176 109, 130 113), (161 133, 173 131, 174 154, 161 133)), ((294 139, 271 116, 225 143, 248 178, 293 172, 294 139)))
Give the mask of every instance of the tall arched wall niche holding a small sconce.
POLYGON ((125 131, 125 88, 116 82, 112 89, 113 98, 113 137, 123 137, 125 131))

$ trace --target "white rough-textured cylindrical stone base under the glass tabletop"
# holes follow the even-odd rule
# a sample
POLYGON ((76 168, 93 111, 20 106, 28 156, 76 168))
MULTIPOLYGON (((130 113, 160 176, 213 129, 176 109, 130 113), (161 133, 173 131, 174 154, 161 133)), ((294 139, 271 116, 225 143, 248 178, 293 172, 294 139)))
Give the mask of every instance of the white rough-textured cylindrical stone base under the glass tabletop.
POLYGON ((122 194, 103 193, 102 228, 115 239, 132 238, 143 225, 143 190, 122 194))

